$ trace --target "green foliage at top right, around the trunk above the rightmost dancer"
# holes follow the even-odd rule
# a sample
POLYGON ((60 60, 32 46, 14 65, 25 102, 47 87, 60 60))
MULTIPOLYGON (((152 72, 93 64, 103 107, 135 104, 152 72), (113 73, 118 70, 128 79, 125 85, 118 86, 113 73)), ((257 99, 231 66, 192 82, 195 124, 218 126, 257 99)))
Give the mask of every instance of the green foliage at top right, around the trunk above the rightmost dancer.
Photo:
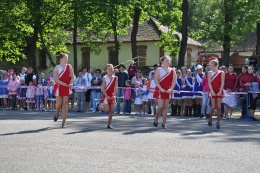
POLYGON ((255 31, 256 21, 260 19, 260 0, 227 1, 231 23, 225 24, 224 0, 193 0, 190 2, 189 35, 195 38, 223 43, 224 34, 231 37, 231 45, 244 41, 244 35, 255 31), (231 26, 231 30, 227 29, 231 26))

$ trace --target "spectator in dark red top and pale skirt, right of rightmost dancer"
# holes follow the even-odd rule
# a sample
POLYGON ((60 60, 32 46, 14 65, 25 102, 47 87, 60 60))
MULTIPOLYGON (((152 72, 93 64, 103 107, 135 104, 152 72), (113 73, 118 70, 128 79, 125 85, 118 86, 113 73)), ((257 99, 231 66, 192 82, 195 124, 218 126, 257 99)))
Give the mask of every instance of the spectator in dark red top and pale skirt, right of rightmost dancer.
POLYGON ((226 97, 222 99, 222 103, 224 103, 225 115, 227 119, 233 118, 233 108, 237 105, 237 96, 236 94, 232 94, 234 92, 235 85, 237 80, 237 74, 234 72, 234 67, 232 64, 229 65, 228 71, 225 73, 225 84, 224 90, 227 94, 226 97))

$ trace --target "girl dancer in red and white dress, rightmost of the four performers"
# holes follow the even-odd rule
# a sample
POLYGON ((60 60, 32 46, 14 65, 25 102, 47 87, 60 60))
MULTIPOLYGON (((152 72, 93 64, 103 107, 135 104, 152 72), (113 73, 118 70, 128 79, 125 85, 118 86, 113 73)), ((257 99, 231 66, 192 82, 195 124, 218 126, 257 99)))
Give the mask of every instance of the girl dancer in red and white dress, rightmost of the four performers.
POLYGON ((208 125, 212 126, 212 116, 213 112, 217 110, 217 129, 220 129, 220 114, 221 114, 221 103, 224 94, 224 84, 225 84, 225 73, 218 70, 218 61, 212 60, 209 62, 209 67, 211 71, 208 72, 208 85, 209 85, 209 98, 211 101, 211 110, 208 125))

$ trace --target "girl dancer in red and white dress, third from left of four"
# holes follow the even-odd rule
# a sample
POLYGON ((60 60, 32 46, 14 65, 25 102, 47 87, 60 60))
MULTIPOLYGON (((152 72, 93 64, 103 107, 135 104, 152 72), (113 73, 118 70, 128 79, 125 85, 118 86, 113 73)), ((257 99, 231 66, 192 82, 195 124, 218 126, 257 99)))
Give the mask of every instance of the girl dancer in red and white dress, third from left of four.
POLYGON ((166 129, 166 119, 168 105, 172 97, 172 91, 176 84, 176 73, 173 68, 170 68, 171 60, 168 56, 160 58, 162 66, 155 71, 154 82, 156 88, 153 97, 157 99, 158 108, 156 110, 153 125, 158 126, 158 117, 163 115, 162 127, 166 129))

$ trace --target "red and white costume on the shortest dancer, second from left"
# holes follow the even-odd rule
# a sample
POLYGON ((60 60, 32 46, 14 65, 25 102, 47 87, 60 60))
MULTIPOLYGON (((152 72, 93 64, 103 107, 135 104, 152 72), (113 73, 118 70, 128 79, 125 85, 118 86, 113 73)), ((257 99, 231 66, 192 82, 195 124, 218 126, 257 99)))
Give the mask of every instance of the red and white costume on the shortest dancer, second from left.
MULTIPOLYGON (((107 75, 104 76, 104 79, 106 81, 106 87, 105 87, 105 90, 106 90, 106 93, 108 96, 112 97, 115 95, 115 84, 116 84, 116 81, 117 81, 117 76, 112 76, 112 79, 110 79, 107 75)), ((101 99, 101 103, 104 103, 104 104, 114 104, 116 103, 116 99, 115 98, 112 98, 112 99, 106 99, 106 96, 102 93, 102 99, 101 99)))

